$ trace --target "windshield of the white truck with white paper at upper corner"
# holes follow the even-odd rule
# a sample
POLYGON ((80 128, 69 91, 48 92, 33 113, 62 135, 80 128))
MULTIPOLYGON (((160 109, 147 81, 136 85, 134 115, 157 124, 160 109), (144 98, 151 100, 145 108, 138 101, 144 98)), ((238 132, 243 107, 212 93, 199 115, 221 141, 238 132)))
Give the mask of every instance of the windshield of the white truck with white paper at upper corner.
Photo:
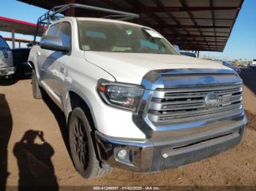
POLYGON ((78 21, 80 48, 85 51, 178 55, 173 46, 150 28, 105 21, 78 21))

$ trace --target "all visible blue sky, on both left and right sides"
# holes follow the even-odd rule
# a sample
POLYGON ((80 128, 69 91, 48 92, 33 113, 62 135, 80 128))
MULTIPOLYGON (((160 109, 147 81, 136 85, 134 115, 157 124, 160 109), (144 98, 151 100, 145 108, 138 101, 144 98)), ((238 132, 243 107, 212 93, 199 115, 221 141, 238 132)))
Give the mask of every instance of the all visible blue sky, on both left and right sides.
MULTIPOLYGON (((37 18, 47 10, 15 0, 0 0, 0 16, 36 23, 37 18)), ((200 56, 210 56, 225 60, 256 58, 256 0, 244 0, 233 31, 223 52, 200 52, 200 56)), ((1 36, 11 37, 10 33, 1 32, 1 36)), ((32 40, 33 36, 15 34, 17 38, 32 40)), ((11 44, 9 42, 9 44, 11 44)), ((16 44, 16 47, 18 44, 16 44)), ((24 46, 24 44, 23 44, 24 46)))

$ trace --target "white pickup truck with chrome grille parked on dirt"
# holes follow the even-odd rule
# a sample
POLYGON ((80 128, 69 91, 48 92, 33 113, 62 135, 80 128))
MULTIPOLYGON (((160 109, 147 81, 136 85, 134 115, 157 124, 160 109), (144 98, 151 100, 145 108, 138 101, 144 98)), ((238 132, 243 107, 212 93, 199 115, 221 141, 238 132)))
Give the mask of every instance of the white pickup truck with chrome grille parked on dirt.
POLYGON ((146 26, 64 17, 31 48, 34 98, 63 110, 72 161, 85 178, 111 167, 162 171, 217 155, 244 137, 242 80, 179 55, 146 26))

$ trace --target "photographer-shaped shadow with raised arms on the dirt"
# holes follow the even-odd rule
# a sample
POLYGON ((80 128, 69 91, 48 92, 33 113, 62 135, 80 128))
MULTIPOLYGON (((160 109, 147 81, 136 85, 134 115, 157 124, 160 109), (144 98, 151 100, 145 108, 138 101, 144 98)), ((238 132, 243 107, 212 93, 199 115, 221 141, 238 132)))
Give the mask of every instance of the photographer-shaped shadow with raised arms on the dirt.
POLYGON ((19 169, 18 190, 44 190, 42 187, 59 190, 51 162, 54 150, 45 140, 42 131, 27 130, 15 144, 13 154, 17 158, 19 169))

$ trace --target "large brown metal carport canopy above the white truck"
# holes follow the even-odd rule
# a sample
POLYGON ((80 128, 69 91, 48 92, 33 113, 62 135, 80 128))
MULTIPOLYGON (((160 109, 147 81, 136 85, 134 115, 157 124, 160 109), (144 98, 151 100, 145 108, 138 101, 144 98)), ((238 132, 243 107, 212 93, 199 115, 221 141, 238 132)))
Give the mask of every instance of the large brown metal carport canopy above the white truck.
MULTIPOLYGON (((227 44, 244 0, 19 0, 50 9, 67 3, 89 4, 140 15, 138 22, 159 31, 182 50, 219 51, 227 44)), ((67 15, 99 17, 76 9, 67 15)))

